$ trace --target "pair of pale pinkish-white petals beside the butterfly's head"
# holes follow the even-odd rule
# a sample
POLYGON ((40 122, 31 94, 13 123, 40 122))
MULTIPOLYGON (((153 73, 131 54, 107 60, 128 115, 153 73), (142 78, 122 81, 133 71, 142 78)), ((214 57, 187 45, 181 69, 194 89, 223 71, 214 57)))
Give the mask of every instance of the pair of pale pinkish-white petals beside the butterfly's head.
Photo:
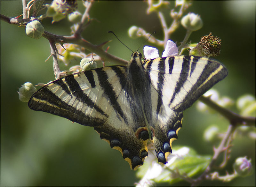
MULTIPOLYGON (((144 51, 144 57, 146 59, 154 59, 159 57, 159 53, 156 48, 145 46, 143 48, 143 51, 144 51)), ((173 41, 168 40, 162 57, 175 56, 175 55, 178 55, 178 48, 173 41)))

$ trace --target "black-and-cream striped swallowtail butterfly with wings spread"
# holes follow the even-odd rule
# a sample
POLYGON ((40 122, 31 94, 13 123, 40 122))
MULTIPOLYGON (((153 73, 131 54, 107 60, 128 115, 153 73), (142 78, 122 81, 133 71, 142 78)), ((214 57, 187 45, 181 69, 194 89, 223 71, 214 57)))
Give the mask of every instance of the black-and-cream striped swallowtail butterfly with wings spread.
POLYGON ((33 110, 92 126, 136 170, 154 143, 159 163, 172 153, 182 111, 227 76, 216 60, 169 56, 141 61, 135 52, 127 66, 108 66, 55 80, 29 100, 33 110))

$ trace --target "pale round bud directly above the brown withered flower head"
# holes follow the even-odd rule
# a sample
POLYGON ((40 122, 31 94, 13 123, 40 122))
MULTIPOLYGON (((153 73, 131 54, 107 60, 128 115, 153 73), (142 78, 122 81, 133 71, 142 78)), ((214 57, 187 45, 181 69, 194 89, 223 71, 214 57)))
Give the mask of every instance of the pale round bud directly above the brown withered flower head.
POLYGON ((196 31, 203 27, 203 21, 198 14, 188 13, 181 19, 181 25, 190 31, 196 31))

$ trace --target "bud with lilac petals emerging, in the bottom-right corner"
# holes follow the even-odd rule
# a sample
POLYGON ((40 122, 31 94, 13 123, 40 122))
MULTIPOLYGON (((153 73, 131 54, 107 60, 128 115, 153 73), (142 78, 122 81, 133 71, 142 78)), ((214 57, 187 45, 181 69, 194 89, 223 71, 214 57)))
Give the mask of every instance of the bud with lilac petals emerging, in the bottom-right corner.
POLYGON ((233 164, 233 168, 239 176, 249 176, 252 174, 251 159, 247 160, 245 157, 239 157, 233 164))

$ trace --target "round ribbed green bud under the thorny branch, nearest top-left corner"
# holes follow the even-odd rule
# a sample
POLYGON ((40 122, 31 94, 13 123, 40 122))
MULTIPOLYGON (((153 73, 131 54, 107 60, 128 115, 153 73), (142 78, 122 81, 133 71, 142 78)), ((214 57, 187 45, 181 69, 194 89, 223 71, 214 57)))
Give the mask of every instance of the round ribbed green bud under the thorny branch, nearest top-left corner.
POLYGON ((39 39, 44 34, 44 27, 40 21, 31 21, 26 25, 26 34, 31 38, 39 39))

